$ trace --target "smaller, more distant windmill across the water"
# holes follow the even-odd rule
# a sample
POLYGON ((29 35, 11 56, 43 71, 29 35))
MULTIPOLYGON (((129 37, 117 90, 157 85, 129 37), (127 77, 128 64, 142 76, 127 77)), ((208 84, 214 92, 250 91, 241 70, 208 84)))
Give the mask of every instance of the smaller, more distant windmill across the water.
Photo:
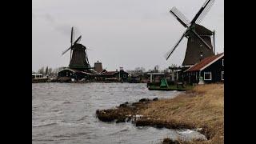
POLYGON ((92 69, 90 67, 88 56, 87 56, 87 48, 86 46, 83 46, 82 44, 79 43, 82 38, 82 35, 80 35, 78 39, 74 41, 74 43, 73 43, 73 38, 74 38, 74 27, 71 28, 71 38, 70 38, 71 46, 62 52, 62 55, 63 55, 70 50, 69 67, 75 70, 92 69))

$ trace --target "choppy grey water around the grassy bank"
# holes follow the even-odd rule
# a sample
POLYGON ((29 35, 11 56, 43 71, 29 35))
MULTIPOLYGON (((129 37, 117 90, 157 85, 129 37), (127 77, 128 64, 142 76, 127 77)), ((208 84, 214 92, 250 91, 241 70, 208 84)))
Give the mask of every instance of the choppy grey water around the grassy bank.
POLYGON ((163 138, 202 137, 191 130, 101 122, 96 110, 141 98, 173 98, 178 91, 151 91, 146 84, 33 83, 33 143, 159 143, 163 138))

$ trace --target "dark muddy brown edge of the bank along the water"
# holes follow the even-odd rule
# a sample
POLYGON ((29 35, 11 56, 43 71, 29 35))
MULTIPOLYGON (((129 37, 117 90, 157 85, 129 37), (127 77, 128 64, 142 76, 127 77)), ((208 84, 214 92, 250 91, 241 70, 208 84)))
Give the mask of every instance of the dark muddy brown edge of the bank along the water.
MULTIPOLYGON (((153 126, 155 128, 167 128, 172 130, 190 129, 204 134, 209 138, 206 128, 197 128, 193 123, 182 123, 175 121, 165 121, 159 118, 154 118, 142 115, 142 111, 149 108, 150 103, 158 101, 158 98, 142 98, 139 102, 129 103, 125 102, 116 106, 114 109, 97 110, 96 115, 102 122, 132 122, 135 126, 153 126)), ((167 138, 168 139, 168 138, 167 138)), ((200 139, 196 140, 202 141, 200 139)), ((186 143, 182 140, 163 141, 164 143, 186 143)))

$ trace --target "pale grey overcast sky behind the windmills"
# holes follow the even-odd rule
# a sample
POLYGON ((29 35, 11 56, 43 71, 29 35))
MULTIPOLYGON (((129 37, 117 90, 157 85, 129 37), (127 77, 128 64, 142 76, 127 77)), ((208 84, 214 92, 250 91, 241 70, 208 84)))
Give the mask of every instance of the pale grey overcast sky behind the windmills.
MULTIPOLYGON (((170 56, 164 55, 186 30, 170 14, 176 6, 188 19, 194 18, 205 0, 33 0, 32 70, 42 66, 68 66, 70 29, 89 48, 90 65, 102 62, 106 70, 125 70, 159 65, 181 65, 187 39, 170 56)), ((224 51, 224 1, 215 0, 200 23, 216 30, 216 51, 224 51)))

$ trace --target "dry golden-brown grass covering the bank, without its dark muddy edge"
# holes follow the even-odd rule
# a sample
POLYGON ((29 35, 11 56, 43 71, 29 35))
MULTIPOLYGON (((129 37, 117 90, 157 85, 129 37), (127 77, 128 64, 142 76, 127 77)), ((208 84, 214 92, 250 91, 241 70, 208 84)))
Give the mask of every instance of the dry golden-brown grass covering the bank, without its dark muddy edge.
POLYGON ((196 86, 176 98, 150 102, 139 114, 172 126, 203 128, 209 140, 194 143, 224 143, 223 84, 196 86))

